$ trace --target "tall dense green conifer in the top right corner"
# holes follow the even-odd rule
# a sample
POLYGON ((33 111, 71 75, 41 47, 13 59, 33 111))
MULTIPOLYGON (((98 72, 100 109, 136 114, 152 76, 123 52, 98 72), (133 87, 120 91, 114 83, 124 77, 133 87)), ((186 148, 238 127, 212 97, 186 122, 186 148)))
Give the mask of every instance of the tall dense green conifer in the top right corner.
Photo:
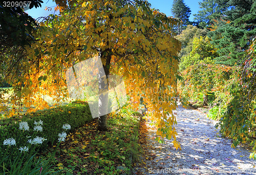
POLYGON ((216 63, 240 64, 249 41, 256 35, 255 0, 218 0, 217 3, 227 10, 215 20, 214 29, 208 33, 220 55, 216 63))

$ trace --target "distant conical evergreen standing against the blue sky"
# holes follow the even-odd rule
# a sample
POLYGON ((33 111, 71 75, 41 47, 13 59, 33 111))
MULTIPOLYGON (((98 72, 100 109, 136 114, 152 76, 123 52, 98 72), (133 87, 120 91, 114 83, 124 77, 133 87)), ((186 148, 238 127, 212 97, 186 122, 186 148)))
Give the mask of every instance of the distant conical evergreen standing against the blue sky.
POLYGON ((191 14, 191 10, 185 5, 183 0, 174 0, 171 12, 175 18, 182 20, 182 23, 175 27, 175 32, 179 35, 182 30, 184 30, 186 26, 190 24, 188 18, 191 14))

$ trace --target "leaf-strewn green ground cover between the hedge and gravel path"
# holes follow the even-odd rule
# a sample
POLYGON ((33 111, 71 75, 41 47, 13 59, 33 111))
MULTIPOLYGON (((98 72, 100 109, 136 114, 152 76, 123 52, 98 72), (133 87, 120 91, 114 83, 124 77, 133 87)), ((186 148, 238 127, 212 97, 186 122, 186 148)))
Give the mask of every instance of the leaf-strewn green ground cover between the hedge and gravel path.
MULTIPOLYGON (((60 144, 52 162, 58 174, 130 174, 140 154, 138 143, 140 117, 131 109, 108 117, 106 132, 97 131, 97 118, 70 133, 60 144)), ((46 158, 54 151, 48 149, 46 158)))

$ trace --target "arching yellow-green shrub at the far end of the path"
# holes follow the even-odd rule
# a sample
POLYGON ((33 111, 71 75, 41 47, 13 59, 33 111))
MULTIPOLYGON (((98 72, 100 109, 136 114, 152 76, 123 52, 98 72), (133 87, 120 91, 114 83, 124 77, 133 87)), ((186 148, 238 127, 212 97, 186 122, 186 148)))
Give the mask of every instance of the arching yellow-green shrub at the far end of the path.
POLYGON ((220 92, 230 82, 230 76, 237 67, 217 64, 195 64, 183 72, 183 79, 178 83, 179 95, 184 105, 189 100, 214 103, 220 92))

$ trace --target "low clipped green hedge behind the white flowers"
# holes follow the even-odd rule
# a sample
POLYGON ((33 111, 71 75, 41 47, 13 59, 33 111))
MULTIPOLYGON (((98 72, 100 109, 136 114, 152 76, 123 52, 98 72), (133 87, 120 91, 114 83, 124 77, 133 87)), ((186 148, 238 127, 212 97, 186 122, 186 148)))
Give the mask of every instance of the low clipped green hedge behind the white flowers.
MULTIPOLYGON (((16 140, 16 146, 13 147, 17 152, 17 148, 20 146, 28 145, 26 143, 29 139, 27 136, 35 136, 47 138, 40 146, 41 151, 45 150, 49 144, 57 141, 58 133, 63 132, 63 124, 70 124, 72 132, 75 128, 83 126, 86 122, 92 120, 92 115, 87 102, 73 102, 66 106, 58 106, 56 108, 39 110, 25 114, 21 117, 14 116, 7 119, 0 120, 0 159, 3 156, 7 145, 3 145, 5 139, 14 138, 16 140), (34 121, 43 121, 42 132, 35 133, 33 128, 35 126, 34 121), (27 121, 30 127, 29 131, 19 130, 19 122, 27 121)), ((67 132, 67 133, 68 133, 67 132)))

